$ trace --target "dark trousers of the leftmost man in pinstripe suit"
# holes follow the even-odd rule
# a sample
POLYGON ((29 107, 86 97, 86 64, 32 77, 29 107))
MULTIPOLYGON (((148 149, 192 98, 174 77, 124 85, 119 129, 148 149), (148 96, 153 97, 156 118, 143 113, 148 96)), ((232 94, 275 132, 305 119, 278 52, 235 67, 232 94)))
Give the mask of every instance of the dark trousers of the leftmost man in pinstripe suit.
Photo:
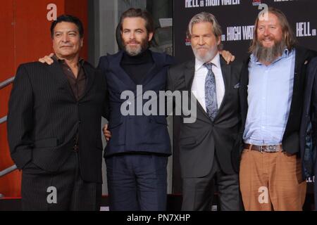
POLYGON ((22 208, 36 211, 100 210, 101 184, 80 177, 78 153, 72 153, 56 173, 30 162, 22 172, 22 208))

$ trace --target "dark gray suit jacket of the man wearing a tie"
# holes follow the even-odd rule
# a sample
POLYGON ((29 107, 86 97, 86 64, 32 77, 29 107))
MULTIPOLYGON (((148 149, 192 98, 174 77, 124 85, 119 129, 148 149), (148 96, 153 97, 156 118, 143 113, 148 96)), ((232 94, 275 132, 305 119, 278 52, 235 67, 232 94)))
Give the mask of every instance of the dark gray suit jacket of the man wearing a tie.
MULTIPOLYGON (((197 101, 197 120, 180 125, 180 167, 182 177, 202 177, 209 174, 213 160, 226 174, 235 174, 239 168, 237 137, 240 129, 239 82, 242 63, 227 65, 220 59, 225 96, 218 115, 212 122, 197 101)), ((175 65, 168 71, 167 89, 188 91, 189 101, 194 79, 194 60, 175 65)), ((190 105, 190 103, 189 103, 190 105)), ((186 117, 182 115, 182 117, 186 117)))

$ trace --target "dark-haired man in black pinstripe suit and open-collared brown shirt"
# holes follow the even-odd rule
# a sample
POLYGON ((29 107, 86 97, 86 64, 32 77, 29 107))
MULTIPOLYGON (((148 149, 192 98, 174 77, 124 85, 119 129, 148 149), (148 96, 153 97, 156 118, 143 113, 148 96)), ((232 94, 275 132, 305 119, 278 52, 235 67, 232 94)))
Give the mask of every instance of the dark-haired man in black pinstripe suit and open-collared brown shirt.
POLYGON ((80 59, 79 19, 61 15, 51 37, 56 63, 20 65, 9 101, 8 143, 23 172, 23 210, 99 210, 106 82, 80 59))

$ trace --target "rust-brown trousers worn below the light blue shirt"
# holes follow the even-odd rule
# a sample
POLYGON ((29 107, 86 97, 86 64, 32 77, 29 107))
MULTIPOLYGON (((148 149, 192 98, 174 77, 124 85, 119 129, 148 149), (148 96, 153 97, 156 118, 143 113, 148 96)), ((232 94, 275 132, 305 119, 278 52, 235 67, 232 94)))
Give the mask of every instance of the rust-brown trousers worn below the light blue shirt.
POLYGON ((283 151, 260 153, 244 149, 240 191, 247 211, 301 211, 306 196, 302 162, 283 151))

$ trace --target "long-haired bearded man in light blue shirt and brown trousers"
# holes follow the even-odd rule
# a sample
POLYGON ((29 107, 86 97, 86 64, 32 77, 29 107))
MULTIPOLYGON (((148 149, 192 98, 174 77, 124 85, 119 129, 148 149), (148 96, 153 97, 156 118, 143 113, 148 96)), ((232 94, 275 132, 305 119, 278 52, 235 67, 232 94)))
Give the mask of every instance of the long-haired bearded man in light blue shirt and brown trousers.
POLYGON ((306 181, 299 157, 306 67, 313 52, 296 46, 286 16, 268 8, 254 27, 240 82, 245 210, 302 210, 306 181))

